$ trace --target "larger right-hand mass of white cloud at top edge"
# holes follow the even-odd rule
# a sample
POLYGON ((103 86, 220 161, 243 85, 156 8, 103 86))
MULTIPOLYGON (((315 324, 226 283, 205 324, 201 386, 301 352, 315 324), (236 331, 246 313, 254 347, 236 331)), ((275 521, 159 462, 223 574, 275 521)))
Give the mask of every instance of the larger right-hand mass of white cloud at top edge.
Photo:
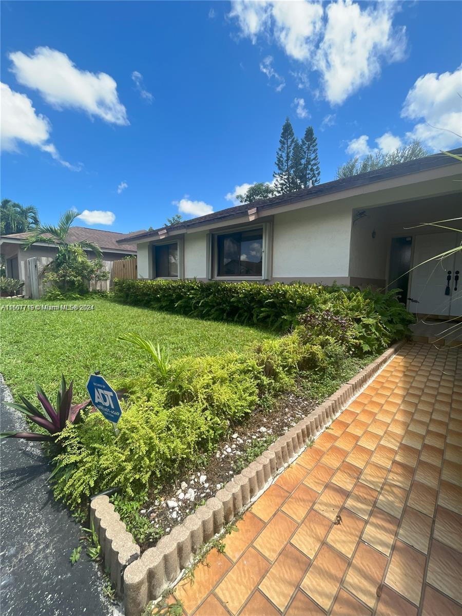
POLYGON ((323 91, 332 104, 341 104, 379 75, 381 62, 403 59, 404 30, 392 20, 397 3, 362 6, 338 0, 326 7, 327 23, 315 68, 322 76, 323 91))

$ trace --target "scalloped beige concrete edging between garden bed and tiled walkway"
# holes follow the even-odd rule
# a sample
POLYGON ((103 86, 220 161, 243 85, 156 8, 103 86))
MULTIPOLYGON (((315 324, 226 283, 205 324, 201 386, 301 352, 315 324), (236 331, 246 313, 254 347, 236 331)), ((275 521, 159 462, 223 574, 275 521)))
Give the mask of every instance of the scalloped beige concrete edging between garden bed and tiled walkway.
POLYGON ((394 344, 340 387, 142 556, 108 497, 95 496, 90 505, 91 521, 111 580, 118 595, 124 598, 126 616, 140 616, 148 602, 158 599, 166 588, 177 583, 201 546, 248 509, 286 466, 298 458, 308 442, 319 436, 347 403, 360 394, 403 344, 404 341, 394 344))

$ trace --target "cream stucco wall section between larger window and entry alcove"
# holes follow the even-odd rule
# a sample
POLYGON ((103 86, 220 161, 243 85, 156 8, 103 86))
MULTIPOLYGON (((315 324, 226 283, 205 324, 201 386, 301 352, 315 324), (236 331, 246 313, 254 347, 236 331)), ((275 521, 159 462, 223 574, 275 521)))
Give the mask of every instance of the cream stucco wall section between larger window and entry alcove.
POLYGON ((351 208, 343 203, 274 216, 273 278, 348 275, 351 208))

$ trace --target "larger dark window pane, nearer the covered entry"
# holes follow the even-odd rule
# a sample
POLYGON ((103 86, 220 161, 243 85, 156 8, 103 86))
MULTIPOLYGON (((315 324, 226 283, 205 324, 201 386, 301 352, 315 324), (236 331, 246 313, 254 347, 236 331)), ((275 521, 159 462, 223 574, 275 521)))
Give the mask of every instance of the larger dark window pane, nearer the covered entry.
POLYGON ((263 230, 217 236, 218 276, 262 275, 263 230))

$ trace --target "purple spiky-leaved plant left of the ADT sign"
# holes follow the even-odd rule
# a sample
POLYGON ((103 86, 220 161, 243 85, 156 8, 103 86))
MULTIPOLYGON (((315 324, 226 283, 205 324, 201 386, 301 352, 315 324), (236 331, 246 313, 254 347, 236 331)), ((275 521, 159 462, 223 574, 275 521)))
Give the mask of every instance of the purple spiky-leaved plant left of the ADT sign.
POLYGON ((91 404, 91 400, 86 400, 80 404, 73 405, 72 385, 73 381, 67 387, 64 376, 62 376, 55 407, 49 401, 43 389, 37 384, 35 389, 41 408, 34 407, 23 395, 19 396, 23 404, 4 402, 8 407, 15 408, 26 415, 30 421, 44 428, 49 434, 42 434, 41 432, 2 432, 0 438, 54 441, 65 427, 66 422, 74 423, 79 417, 79 411, 91 404))

